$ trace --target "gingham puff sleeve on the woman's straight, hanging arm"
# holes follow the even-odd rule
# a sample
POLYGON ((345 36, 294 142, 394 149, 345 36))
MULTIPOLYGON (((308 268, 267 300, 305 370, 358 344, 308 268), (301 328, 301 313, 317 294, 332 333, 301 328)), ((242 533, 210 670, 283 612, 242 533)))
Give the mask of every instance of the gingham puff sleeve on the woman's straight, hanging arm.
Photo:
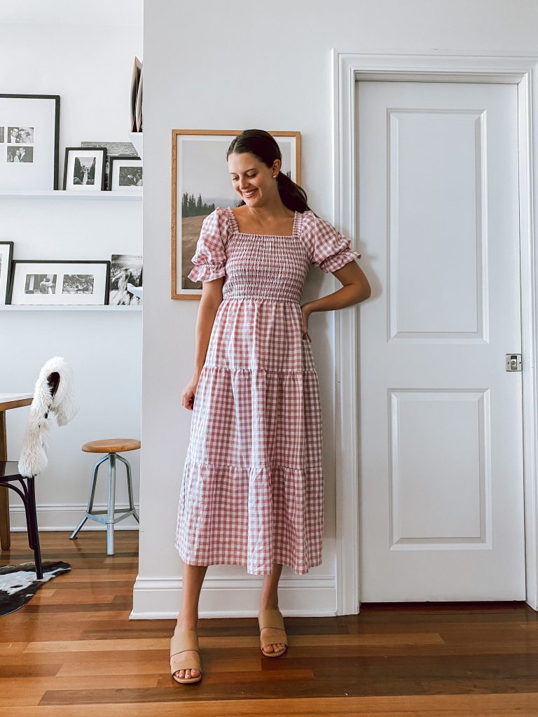
POLYGON ((226 275, 227 218, 217 206, 202 222, 196 253, 192 257, 194 268, 187 274, 192 281, 212 281, 226 275))

